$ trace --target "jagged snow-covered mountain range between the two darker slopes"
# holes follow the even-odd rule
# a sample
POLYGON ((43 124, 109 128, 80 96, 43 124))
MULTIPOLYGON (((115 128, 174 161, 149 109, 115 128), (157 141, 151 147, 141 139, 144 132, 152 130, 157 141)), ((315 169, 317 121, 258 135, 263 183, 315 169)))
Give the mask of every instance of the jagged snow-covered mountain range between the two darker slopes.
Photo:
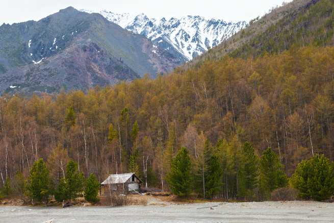
POLYGON ((155 19, 145 14, 117 14, 106 10, 98 13, 126 30, 146 36, 174 56, 182 55, 184 61, 208 51, 247 26, 245 21, 225 22, 201 16, 155 19))

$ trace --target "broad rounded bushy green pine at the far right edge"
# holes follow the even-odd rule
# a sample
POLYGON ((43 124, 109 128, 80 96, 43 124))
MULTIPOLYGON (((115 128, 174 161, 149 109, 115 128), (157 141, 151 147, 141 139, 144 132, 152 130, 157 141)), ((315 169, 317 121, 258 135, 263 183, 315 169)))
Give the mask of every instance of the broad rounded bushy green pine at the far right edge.
POLYGON ((323 155, 298 164, 291 178, 303 199, 323 201, 334 195, 334 165, 323 155))

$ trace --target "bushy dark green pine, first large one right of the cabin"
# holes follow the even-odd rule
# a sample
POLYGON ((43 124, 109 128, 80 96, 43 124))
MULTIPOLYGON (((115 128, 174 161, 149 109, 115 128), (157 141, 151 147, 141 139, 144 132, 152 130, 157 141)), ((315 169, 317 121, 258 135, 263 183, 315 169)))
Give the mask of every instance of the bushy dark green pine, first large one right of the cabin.
POLYGON ((172 160, 171 171, 167 177, 169 187, 177 196, 188 196, 191 192, 191 160, 187 148, 183 147, 172 160))

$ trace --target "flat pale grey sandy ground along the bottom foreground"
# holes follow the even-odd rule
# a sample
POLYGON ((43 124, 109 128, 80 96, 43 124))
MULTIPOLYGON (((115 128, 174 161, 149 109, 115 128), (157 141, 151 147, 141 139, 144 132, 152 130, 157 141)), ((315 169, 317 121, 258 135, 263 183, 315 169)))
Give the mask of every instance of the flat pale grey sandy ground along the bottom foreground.
POLYGON ((334 203, 263 202, 126 207, 0 207, 0 222, 334 222, 334 203), (213 209, 205 208, 209 206, 213 209))

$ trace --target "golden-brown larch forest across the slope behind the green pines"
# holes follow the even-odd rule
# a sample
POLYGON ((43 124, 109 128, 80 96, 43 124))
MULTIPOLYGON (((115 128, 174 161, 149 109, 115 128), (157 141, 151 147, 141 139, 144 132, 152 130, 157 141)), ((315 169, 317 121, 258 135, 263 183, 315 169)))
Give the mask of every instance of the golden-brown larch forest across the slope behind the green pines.
POLYGON ((28 177, 42 158, 55 185, 71 159, 100 182, 136 172, 145 187, 169 190, 172 160, 182 147, 194 173, 205 148, 215 147, 228 158, 216 156, 226 175, 221 196, 233 198, 246 142, 256 157, 271 147, 288 177, 316 154, 333 161, 333 55, 334 47, 291 47, 254 59, 207 60, 86 93, 3 95, 0 187, 17 172, 28 177))

